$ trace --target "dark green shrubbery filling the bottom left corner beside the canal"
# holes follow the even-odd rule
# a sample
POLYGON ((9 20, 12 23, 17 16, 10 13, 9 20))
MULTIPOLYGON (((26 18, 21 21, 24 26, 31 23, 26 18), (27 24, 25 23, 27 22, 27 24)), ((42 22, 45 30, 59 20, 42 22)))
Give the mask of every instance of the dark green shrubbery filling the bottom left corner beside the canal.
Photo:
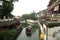
POLYGON ((15 40, 17 31, 15 29, 0 31, 0 40, 15 40))

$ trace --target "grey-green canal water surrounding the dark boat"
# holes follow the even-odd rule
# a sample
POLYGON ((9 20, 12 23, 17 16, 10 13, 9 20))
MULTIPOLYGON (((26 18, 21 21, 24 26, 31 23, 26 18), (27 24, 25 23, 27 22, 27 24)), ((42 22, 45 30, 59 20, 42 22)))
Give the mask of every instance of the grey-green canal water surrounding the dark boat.
POLYGON ((17 40, 39 40, 39 30, 35 29, 35 31, 31 30, 31 36, 26 35, 26 28, 23 28, 21 34, 18 36, 17 40))

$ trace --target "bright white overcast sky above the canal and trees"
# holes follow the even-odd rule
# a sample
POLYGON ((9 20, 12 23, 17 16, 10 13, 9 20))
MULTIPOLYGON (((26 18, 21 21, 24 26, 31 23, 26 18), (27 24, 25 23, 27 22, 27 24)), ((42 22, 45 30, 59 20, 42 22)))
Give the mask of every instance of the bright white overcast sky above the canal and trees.
POLYGON ((49 0, 19 0, 14 3, 12 14, 21 16, 25 13, 31 13, 33 10, 37 13, 47 8, 49 0))

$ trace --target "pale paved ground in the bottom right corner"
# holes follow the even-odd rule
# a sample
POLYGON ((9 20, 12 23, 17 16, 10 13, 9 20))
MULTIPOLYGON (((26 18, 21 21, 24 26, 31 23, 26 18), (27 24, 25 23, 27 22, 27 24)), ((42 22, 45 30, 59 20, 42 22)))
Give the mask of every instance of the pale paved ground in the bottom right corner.
MULTIPOLYGON (((58 31, 58 30, 60 30, 60 26, 48 28, 48 40, 57 40, 58 38, 60 38, 60 31, 58 31), (53 37, 53 35, 54 35, 54 37, 53 37)), ((60 40, 60 39, 58 39, 58 40, 60 40)))

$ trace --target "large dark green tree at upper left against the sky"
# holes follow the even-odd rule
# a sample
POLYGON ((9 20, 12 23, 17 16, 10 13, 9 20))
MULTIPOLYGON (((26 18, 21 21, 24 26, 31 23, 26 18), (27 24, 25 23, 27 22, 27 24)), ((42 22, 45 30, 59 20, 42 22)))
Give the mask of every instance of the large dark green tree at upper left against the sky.
MULTIPOLYGON (((2 13, 0 13, 0 17, 3 17, 3 16, 7 16, 7 15, 11 15, 12 16, 12 14, 11 14, 11 12, 12 12, 12 10, 13 10, 13 6, 14 6, 14 4, 13 4, 13 2, 15 2, 15 1, 18 1, 18 0, 3 0, 3 9, 2 9, 2 13)), ((10 17, 10 16, 9 16, 10 17)))

